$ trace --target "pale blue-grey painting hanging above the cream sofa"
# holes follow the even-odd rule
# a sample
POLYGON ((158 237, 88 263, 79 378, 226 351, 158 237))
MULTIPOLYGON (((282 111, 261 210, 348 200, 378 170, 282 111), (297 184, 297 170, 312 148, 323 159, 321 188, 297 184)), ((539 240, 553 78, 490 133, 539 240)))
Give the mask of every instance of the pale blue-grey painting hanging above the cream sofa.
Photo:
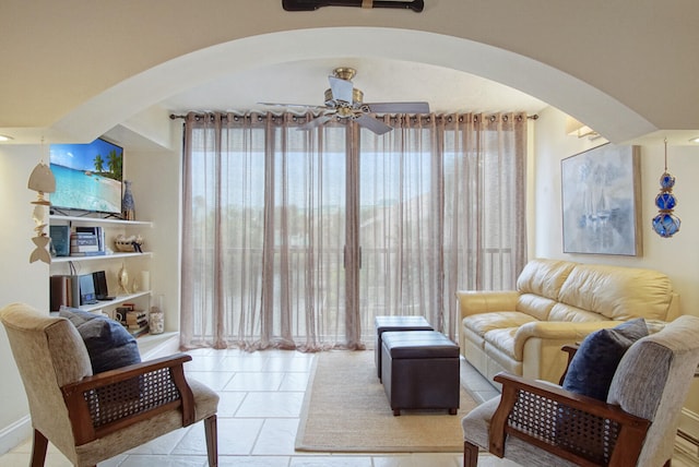
POLYGON ((642 255, 640 146, 607 143, 560 171, 564 253, 642 255))

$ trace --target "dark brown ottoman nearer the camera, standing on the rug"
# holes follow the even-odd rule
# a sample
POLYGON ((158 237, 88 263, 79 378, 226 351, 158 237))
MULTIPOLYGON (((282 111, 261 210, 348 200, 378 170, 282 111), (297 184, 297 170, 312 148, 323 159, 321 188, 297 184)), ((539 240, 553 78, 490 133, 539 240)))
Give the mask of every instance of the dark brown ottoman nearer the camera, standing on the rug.
POLYGON ((384 332, 381 380, 393 409, 459 409, 459 346, 436 331, 384 332))

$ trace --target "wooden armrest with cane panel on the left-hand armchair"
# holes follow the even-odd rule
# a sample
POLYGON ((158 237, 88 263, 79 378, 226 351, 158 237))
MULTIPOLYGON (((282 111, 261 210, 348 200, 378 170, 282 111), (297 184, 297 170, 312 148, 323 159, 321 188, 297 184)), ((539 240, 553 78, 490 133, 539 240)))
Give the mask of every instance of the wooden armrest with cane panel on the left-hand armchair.
POLYGON ((82 445, 157 414, 181 407, 182 427, 194 422, 194 396, 177 354, 105 371, 61 387, 73 428, 82 445))

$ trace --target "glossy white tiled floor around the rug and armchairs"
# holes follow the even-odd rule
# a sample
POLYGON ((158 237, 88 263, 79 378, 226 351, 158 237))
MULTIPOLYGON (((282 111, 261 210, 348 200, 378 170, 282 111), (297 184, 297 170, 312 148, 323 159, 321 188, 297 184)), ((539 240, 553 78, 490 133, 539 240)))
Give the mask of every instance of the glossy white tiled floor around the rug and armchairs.
MULTIPOLYGON (((265 350, 200 349, 190 352, 187 374, 218 391, 218 464, 237 467, 459 467, 461 454, 313 454, 296 453, 294 440, 304 393, 312 368, 312 354, 265 350)), ((462 360, 461 376, 474 395, 497 394, 490 384, 462 360)), ((28 465, 31 442, 0 456, 0 467, 28 465)), ((690 457, 673 459, 674 467, 697 466, 690 457)), ((206 465, 202 423, 173 432, 99 466, 154 467, 206 465)), ((481 455, 482 467, 514 464, 481 455)), ((70 466, 49 446, 47 467, 70 466)))

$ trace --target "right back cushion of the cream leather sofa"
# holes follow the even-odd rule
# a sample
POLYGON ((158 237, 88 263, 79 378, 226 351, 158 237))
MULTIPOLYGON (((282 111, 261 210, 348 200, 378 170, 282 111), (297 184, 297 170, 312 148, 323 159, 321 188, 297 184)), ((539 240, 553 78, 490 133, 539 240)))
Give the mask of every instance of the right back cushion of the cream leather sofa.
POLYGON ((670 278, 660 272, 599 264, 577 264, 558 296, 561 303, 614 321, 664 321, 672 299, 670 278))

